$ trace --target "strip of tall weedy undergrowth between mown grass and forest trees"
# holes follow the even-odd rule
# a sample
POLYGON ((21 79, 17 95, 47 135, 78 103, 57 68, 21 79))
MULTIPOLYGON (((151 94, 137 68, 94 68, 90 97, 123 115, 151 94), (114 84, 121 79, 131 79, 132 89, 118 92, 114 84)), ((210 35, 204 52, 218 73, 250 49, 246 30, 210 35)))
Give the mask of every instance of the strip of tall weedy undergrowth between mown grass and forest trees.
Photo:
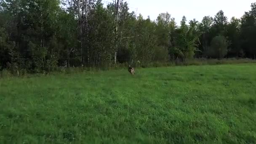
MULTIPOLYGON (((190 66, 190 65, 218 65, 218 64, 248 64, 248 63, 256 63, 256 60, 253 59, 189 59, 187 61, 155 61, 147 64, 141 64, 136 61, 132 64, 133 67, 136 68, 149 68, 149 67, 173 67, 173 66, 190 66)), ((42 71, 38 72, 37 75, 49 75, 56 73, 79 73, 79 72, 96 72, 96 71, 106 71, 113 69, 127 69, 128 63, 117 63, 117 64, 109 64, 108 66, 103 67, 55 67, 53 71, 47 72, 42 71)), ((29 70, 21 69, 19 74, 15 71, 9 69, 3 69, 0 71, 0 77, 11 77, 11 76, 27 76, 30 74, 35 74, 34 72, 29 72, 29 70)))

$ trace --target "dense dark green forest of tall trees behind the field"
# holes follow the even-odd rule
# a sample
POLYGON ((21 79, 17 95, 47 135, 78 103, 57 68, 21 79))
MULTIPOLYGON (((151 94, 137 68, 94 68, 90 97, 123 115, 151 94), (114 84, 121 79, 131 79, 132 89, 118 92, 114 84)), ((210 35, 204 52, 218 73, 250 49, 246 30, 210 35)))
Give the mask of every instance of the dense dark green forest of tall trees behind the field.
POLYGON ((241 18, 220 10, 177 22, 171 14, 144 18, 125 0, 0 0, 0 69, 256 59, 256 3, 241 18))

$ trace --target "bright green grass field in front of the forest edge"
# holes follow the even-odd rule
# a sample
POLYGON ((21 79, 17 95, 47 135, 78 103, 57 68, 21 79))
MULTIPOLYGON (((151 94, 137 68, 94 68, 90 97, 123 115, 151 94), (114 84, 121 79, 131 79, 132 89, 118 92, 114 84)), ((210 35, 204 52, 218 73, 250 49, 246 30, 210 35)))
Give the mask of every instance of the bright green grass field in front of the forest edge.
POLYGON ((256 64, 0 79, 0 143, 256 143, 256 64))

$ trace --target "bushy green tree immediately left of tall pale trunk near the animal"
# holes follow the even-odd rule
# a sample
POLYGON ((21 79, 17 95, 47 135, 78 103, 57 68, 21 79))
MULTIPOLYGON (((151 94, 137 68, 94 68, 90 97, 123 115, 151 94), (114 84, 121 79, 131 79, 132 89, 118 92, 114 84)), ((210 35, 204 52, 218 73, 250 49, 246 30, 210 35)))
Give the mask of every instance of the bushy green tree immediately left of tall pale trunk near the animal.
POLYGON ((111 14, 107 12, 102 3, 96 3, 93 16, 88 22, 91 25, 88 34, 90 41, 88 47, 89 66, 99 67, 111 63, 115 53, 115 45, 112 41, 115 37, 114 21, 112 21, 111 14))

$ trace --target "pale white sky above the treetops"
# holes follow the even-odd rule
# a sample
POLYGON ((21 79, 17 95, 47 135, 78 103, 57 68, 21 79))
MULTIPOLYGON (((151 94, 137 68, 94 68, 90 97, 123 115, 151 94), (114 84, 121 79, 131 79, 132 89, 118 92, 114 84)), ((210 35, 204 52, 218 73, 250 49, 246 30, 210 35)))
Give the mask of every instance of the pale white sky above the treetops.
MULTIPOLYGON (((203 16, 212 16, 222 10, 228 20, 235 16, 240 18, 245 11, 251 10, 251 3, 256 0, 125 0, 128 2, 130 11, 139 13, 146 19, 157 18, 159 13, 168 12, 175 18, 177 24, 182 16, 187 17, 187 21, 196 19, 201 21, 203 16)), ((113 0, 103 0, 103 3, 113 2, 113 0)))

